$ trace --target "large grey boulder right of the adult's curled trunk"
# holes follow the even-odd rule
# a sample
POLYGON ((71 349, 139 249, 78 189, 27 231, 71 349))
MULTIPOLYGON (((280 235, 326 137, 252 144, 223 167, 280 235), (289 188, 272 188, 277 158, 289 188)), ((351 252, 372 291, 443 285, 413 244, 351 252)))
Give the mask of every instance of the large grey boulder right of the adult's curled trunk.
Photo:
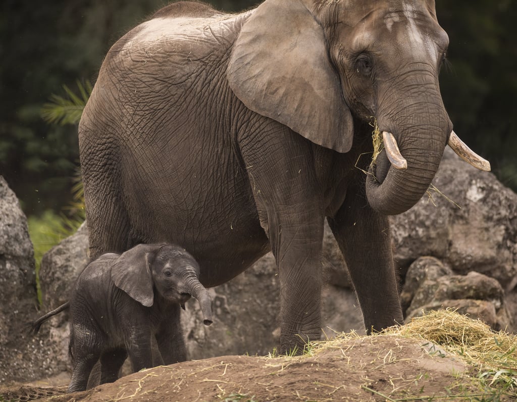
POLYGON ((476 271, 511 291, 517 285, 517 195, 448 147, 433 184, 447 198, 431 190, 391 219, 402 271, 418 257, 434 256, 455 273, 476 271))

